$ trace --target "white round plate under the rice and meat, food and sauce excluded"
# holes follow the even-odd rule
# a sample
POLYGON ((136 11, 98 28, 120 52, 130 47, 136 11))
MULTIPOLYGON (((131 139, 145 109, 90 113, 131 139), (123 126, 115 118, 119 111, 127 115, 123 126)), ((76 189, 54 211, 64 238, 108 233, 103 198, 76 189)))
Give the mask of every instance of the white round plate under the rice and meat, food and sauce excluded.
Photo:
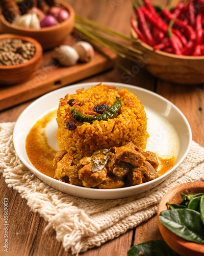
MULTIPOLYGON (((156 152, 160 156, 176 156, 174 165, 164 175, 144 184, 116 188, 95 189, 70 185, 40 173, 30 162, 25 152, 25 139, 37 120, 51 110, 57 109, 59 99, 67 93, 74 94, 76 90, 95 86, 99 82, 80 83, 68 86, 45 94, 35 100, 19 116, 13 133, 14 147, 20 160, 42 181, 48 185, 73 196, 91 199, 116 199, 130 197, 143 193, 164 181, 185 159, 191 145, 192 134, 190 125, 182 114, 170 101, 151 91, 130 86, 129 84, 103 82, 118 89, 126 87, 134 93, 144 105, 147 114, 147 131, 150 137, 147 140, 146 150, 156 152)), ((47 124, 46 136, 50 146, 57 149, 55 133, 57 123, 55 118, 47 124)))

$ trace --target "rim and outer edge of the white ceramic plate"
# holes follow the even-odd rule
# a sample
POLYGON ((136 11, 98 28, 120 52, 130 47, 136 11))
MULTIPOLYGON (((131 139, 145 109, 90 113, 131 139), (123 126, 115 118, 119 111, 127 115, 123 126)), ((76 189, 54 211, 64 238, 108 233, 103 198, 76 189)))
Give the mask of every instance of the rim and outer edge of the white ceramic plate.
MULTIPOLYGON (((180 158, 179 162, 177 162, 170 170, 168 170, 164 175, 160 176, 159 178, 152 180, 152 181, 148 181, 147 183, 143 183, 143 184, 139 184, 136 186, 131 186, 131 187, 123 187, 123 188, 114 188, 114 189, 96 189, 96 188, 86 188, 86 187, 80 187, 80 186, 75 186, 75 185, 71 185, 71 184, 67 184, 58 180, 55 180, 53 178, 50 178, 42 173, 40 173, 36 168, 34 168, 30 163, 28 163, 24 157, 21 154, 21 151, 18 147, 17 144, 17 135, 18 135, 18 129, 19 129, 19 124, 20 122, 23 120, 23 117, 25 115, 25 113, 27 113, 30 109, 33 108, 33 106, 35 106, 39 101, 44 100, 46 97, 49 97, 52 94, 55 94, 56 92, 60 92, 60 91, 67 91, 69 89, 72 89, 73 87, 77 87, 80 86, 82 87, 86 87, 86 86, 95 86, 96 84, 98 84, 100 82, 86 82, 86 83, 78 83, 78 84, 74 84, 74 85, 70 85, 67 87, 63 87, 60 89, 57 89, 55 91, 49 92, 41 97, 39 97, 37 100, 35 100, 33 103, 31 103, 27 109, 25 109, 21 115, 18 117, 15 127, 14 127, 14 132, 13 132, 13 141, 14 141, 14 148, 15 151, 18 155, 18 157, 20 158, 20 160, 23 162, 23 164, 25 166, 27 166, 30 170, 32 170, 32 172, 41 180, 43 180, 45 183, 47 183, 50 186, 53 186, 56 188, 57 187, 61 187, 62 185, 64 186, 68 186, 67 190, 69 190, 69 188, 71 189, 70 193, 69 191, 64 191, 63 189, 59 189, 64 193, 73 195, 73 196, 80 196, 80 197, 84 197, 84 198, 91 198, 91 199, 116 199, 116 198, 125 198, 125 197, 130 197, 133 195, 137 195, 142 193, 143 191, 147 191, 149 188, 145 189, 144 187, 155 187, 156 185, 160 184, 162 181, 164 181, 171 173, 174 172, 174 170, 179 167, 179 165, 184 161, 184 159, 186 158, 189 150, 190 150, 190 146, 191 146, 191 141, 192 141, 192 133, 191 133, 191 128, 190 125, 186 119, 186 117, 184 116, 184 114, 173 104, 171 103, 169 100, 167 100, 166 98, 160 96, 157 93, 151 92, 147 89, 143 89, 137 86, 132 86, 130 84, 124 84, 124 83, 117 83, 117 82, 105 82, 103 81, 103 84, 108 84, 108 85, 112 85, 112 86, 116 86, 117 88, 124 88, 126 87, 127 89, 135 89, 139 92, 142 93, 146 93, 146 94, 150 94, 152 97, 156 97, 158 100, 162 100, 164 102, 166 102, 167 104, 171 105, 171 108, 173 108, 177 114, 183 119, 184 124, 186 125, 185 129, 186 131, 188 131, 185 136, 187 139, 187 146, 186 146, 186 150, 183 154, 183 156, 180 158), (46 181, 45 181, 46 180, 46 181), (56 183, 55 185, 53 185, 54 183, 56 183), (62 184, 63 183, 63 184, 62 184), (154 185, 154 183, 156 183, 156 185, 154 185), (60 186, 61 185, 61 186, 60 186), (76 193, 73 193, 72 190, 77 190, 76 193), (141 191, 141 192, 140 192, 141 191), (118 197, 116 196, 118 194, 118 197), (120 196, 119 196, 120 195, 120 196)), ((62 97, 65 95, 65 93, 62 93, 62 97)), ((138 97, 139 98, 139 97, 138 97)), ((32 127, 32 126, 31 126, 32 127)))

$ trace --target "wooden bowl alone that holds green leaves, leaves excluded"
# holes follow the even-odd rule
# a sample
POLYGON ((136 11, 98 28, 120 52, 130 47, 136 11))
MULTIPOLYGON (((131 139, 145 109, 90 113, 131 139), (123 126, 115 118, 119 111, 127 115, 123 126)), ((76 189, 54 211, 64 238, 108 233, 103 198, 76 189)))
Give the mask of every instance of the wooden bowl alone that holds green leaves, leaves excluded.
POLYGON ((166 202, 169 203, 180 203, 181 193, 185 194, 185 191, 188 190, 189 193, 204 193, 204 182, 188 182, 176 186, 168 191, 168 193, 162 198, 159 204, 158 212, 157 212, 157 220, 159 225, 159 230, 162 234, 164 241, 177 253, 182 256, 203 256, 204 255, 204 245, 192 243, 186 241, 174 233, 172 233, 169 229, 167 229, 160 221, 159 215, 163 210, 167 210, 166 202))

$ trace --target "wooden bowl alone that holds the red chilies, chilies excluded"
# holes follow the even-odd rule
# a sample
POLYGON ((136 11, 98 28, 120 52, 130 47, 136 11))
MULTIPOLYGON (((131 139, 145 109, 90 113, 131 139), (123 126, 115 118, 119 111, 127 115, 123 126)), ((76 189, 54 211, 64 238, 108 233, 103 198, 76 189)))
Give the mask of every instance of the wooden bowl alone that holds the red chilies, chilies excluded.
MULTIPOLYGON (((131 34, 137 34, 131 28, 131 34)), ((143 52, 145 69, 162 80, 179 84, 200 84, 204 81, 204 56, 179 56, 155 50, 138 39, 135 46, 143 52)))

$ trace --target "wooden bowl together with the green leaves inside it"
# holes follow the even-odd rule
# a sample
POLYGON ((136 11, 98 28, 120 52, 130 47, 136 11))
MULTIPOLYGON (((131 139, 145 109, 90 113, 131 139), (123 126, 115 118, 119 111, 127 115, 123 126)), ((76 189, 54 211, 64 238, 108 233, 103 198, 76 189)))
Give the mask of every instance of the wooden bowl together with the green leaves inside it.
POLYGON ((182 256, 204 255, 204 225, 200 219, 204 214, 204 201, 203 197, 202 201, 198 200, 201 198, 202 194, 204 194, 204 182, 184 183, 169 190, 162 198, 158 207, 157 219, 162 237, 175 252, 182 256), (186 191, 188 191, 188 193, 186 193, 186 191), (181 194, 184 199, 182 199, 181 194), (200 194, 200 197, 192 194, 200 194), (198 207, 197 201, 199 201, 200 204, 202 203, 202 206, 199 205, 200 208, 195 208, 198 207), (170 204, 168 207, 175 209, 169 210, 166 204, 167 202, 170 204), (181 205, 184 207, 181 207, 181 205), (188 212, 185 212, 186 210, 188 212), (185 236, 185 239, 181 237, 181 233, 183 237, 185 236), (202 244, 186 239, 193 241, 195 241, 195 239, 197 241, 198 239, 199 243, 202 244))

